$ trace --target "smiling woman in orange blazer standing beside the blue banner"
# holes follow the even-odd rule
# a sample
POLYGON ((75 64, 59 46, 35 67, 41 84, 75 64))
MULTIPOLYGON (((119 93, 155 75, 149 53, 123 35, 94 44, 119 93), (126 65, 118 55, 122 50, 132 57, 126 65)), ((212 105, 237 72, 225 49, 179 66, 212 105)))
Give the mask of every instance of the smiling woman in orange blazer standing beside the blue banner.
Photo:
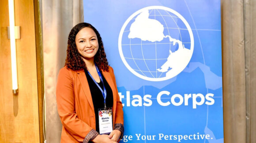
POLYGON ((69 33, 56 100, 63 125, 61 143, 117 143, 122 138, 123 106, 113 68, 108 65, 100 34, 89 23, 79 23, 69 33), (112 113, 102 114, 104 110, 112 113), (102 124, 106 121, 108 127, 102 124), (110 129, 110 134, 103 128, 110 129))

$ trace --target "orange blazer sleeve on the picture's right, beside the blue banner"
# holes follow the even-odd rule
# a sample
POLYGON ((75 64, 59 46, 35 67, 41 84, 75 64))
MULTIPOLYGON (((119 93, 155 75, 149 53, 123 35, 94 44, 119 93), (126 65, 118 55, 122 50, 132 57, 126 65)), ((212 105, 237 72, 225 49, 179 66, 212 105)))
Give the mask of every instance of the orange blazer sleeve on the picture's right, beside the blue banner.
POLYGON ((116 88, 116 96, 117 97, 117 109, 116 109, 116 115, 115 115, 115 129, 118 129, 122 132, 120 139, 123 137, 124 135, 124 112, 123 112, 123 105, 122 102, 120 101, 120 97, 118 95, 118 90, 117 90, 117 83, 116 83, 116 78, 114 75, 114 71, 112 67, 109 67, 110 69, 110 73, 111 73, 111 77, 113 79, 113 82, 115 84, 115 88, 116 88))

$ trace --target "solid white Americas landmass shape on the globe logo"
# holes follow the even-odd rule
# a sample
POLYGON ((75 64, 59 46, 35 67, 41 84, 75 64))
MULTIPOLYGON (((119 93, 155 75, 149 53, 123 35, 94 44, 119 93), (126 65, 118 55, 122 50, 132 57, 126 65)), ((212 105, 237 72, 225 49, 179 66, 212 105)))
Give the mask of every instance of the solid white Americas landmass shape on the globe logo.
POLYGON ((171 70, 180 70, 179 68, 184 62, 190 60, 190 50, 184 47, 184 44, 178 39, 173 39, 169 35, 164 35, 164 26, 156 19, 149 18, 149 11, 141 12, 132 23, 130 27, 130 33, 128 38, 139 38, 143 41, 162 41, 162 39, 168 37, 169 41, 175 45, 178 44, 178 49, 174 52, 169 50, 169 56, 167 61, 162 64, 161 68, 158 68, 158 72, 167 72, 166 76, 171 74, 171 70))

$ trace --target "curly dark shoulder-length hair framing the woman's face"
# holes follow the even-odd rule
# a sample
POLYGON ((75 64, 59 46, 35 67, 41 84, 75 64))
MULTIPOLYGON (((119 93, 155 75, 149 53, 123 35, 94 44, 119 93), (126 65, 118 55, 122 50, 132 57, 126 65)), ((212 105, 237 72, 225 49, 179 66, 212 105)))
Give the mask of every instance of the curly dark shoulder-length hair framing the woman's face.
POLYGON ((82 70, 82 69, 87 70, 86 64, 83 61, 81 55, 79 54, 76 44, 75 44, 75 36, 81 29, 83 29, 85 27, 93 29, 93 31, 97 35, 99 48, 98 48, 97 53, 94 56, 94 63, 96 63, 96 65, 98 66, 98 68, 100 70, 108 71, 109 63, 106 59, 106 54, 105 54, 104 46, 102 43, 102 37, 100 36, 97 29, 95 29, 89 23, 85 23, 85 22, 75 25, 69 33, 68 49, 67 49, 67 57, 66 57, 65 66, 67 66, 67 68, 72 69, 74 71, 78 71, 78 70, 82 70))

